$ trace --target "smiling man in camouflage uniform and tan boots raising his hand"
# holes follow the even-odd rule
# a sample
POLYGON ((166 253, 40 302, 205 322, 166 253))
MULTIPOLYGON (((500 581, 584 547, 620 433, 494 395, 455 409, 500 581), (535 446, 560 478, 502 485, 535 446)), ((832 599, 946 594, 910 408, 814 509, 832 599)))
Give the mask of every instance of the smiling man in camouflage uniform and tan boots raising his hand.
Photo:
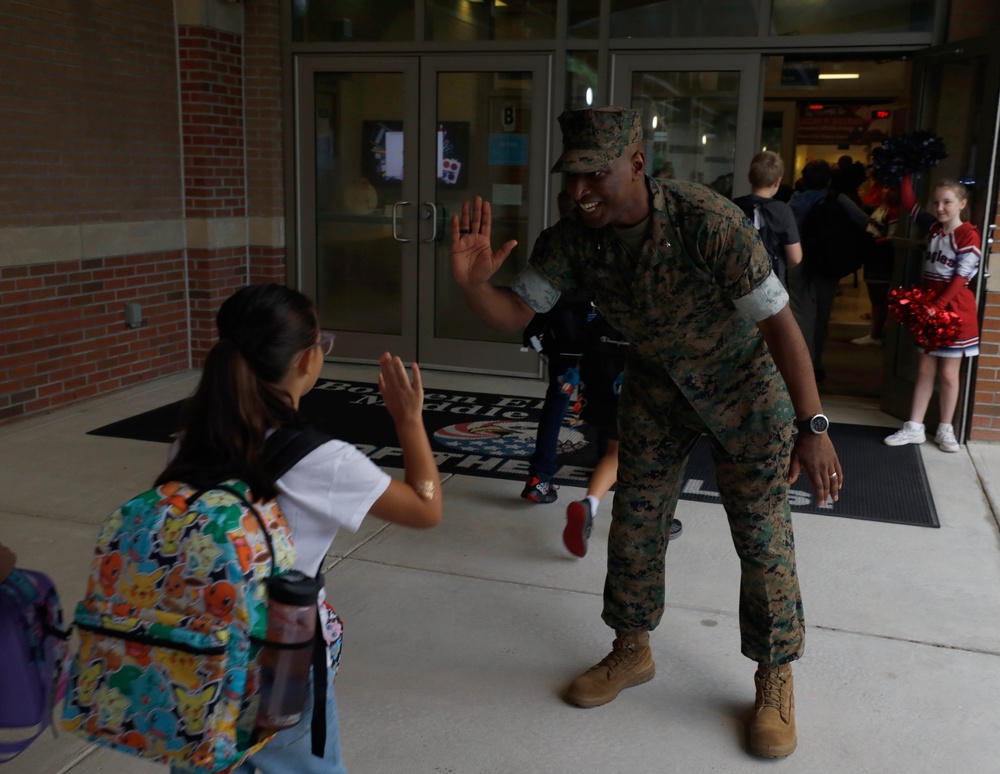
POLYGON ((564 149, 552 171, 566 174, 576 209, 542 232, 514 285, 499 288, 490 279, 516 243, 493 250, 492 212, 477 197, 452 218, 451 263, 469 305, 501 330, 584 287, 631 342, 604 593, 615 640, 565 698, 596 707, 655 674, 649 631, 663 615, 670 521, 705 433, 742 568, 742 650, 758 662, 750 746, 784 757, 797 743, 790 662, 804 637, 789 472, 805 470, 820 503, 843 483, 808 349, 740 209, 703 186, 644 174, 638 111, 570 111, 559 123, 564 149))

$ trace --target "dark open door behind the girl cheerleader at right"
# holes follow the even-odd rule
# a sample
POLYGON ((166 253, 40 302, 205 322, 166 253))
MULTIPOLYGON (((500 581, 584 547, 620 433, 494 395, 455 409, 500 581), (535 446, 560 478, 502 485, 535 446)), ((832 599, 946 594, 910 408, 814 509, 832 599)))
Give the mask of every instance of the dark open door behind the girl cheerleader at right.
MULTIPOLYGON (((983 237, 980 245, 983 262, 974 282, 977 297, 982 299, 989 261, 987 239, 993 236, 996 211, 994 164, 997 159, 997 102, 983 99, 985 94, 1000 91, 1000 54, 993 40, 962 41, 954 46, 922 52, 915 59, 914 129, 930 128, 944 140, 948 156, 937 166, 914 178, 917 201, 924 207, 934 181, 949 177, 969 190, 970 211, 964 218, 976 225, 983 237)), ((923 273, 926 240, 915 230, 910 239, 900 240, 896 253, 892 286, 919 285, 923 273)), ((898 326, 887 331, 886 373, 882 392, 882 410, 908 419, 918 354, 913 339, 902 335, 898 326)), ((960 439, 967 437, 966 407, 970 404, 974 359, 967 358, 962 368, 962 390, 955 430, 960 439)), ((930 402, 925 422, 933 427, 938 421, 938 401, 930 402)))

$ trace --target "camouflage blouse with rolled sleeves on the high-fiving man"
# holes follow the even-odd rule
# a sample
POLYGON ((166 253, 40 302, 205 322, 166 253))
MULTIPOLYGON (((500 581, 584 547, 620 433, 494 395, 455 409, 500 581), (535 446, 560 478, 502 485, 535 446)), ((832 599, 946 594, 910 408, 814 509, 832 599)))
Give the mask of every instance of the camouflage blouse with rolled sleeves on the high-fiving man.
POLYGON ((590 288, 640 361, 626 378, 665 372, 724 446, 735 452, 748 432, 773 437, 775 420, 791 419, 791 401, 763 336, 734 304, 771 274, 756 229, 705 186, 648 177, 646 185, 650 235, 638 261, 613 228, 588 228, 570 213, 539 235, 529 268, 558 290, 590 288))

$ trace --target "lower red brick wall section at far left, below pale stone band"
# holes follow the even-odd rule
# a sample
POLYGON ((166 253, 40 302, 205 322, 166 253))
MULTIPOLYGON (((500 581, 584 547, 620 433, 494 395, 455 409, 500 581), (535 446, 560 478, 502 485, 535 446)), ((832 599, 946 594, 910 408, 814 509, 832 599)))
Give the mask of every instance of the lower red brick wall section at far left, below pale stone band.
POLYGON ((0 421, 186 368, 183 267, 175 251, 0 269, 0 421), (128 301, 147 327, 126 328, 128 301))

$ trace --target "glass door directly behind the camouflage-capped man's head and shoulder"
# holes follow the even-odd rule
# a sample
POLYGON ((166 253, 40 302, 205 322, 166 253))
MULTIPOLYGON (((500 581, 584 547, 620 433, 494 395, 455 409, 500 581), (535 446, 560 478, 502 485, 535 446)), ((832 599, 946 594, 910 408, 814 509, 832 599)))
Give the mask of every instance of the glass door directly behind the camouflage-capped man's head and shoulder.
POLYGON ((650 174, 750 192, 760 57, 616 54, 613 72, 612 104, 643 111, 650 174))

